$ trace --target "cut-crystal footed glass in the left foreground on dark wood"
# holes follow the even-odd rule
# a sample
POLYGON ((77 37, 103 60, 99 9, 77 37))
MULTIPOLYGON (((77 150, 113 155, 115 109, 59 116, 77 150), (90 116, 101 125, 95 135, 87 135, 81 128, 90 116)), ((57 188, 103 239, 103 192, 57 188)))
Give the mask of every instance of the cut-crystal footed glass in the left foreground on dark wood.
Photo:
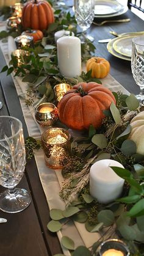
POLYGON ((31 203, 26 189, 15 188, 24 174, 26 153, 23 127, 15 117, 0 117, 0 209, 6 213, 23 211, 31 203))

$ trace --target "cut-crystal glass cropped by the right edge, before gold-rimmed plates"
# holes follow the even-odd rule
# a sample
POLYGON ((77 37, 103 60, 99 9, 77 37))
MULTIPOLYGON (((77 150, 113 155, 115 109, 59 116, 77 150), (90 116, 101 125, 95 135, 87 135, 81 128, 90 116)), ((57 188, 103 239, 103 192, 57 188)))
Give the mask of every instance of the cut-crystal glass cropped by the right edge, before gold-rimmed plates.
POLYGON ((132 39, 132 58, 131 58, 132 75, 136 84, 140 87, 139 99, 140 104, 144 104, 144 35, 132 39))

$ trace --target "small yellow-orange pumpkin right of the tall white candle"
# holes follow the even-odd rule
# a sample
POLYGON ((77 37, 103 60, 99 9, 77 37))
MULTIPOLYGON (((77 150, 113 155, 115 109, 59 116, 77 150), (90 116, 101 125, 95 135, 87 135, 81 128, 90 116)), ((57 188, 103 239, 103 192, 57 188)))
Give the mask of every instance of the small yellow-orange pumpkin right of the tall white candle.
POLYGON ((87 60, 87 71, 92 69, 92 78, 105 78, 110 71, 110 64, 104 58, 92 57, 87 60))

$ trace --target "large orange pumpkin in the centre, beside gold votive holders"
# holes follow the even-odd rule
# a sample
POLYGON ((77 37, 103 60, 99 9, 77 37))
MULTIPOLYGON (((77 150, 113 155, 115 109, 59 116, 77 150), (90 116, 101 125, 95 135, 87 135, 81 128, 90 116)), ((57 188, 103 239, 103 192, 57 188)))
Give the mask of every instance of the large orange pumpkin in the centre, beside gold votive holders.
POLYGON ((112 102, 115 97, 109 89, 96 82, 80 82, 60 100, 59 119, 74 130, 85 130, 90 125, 98 128, 105 117, 103 110, 112 102))

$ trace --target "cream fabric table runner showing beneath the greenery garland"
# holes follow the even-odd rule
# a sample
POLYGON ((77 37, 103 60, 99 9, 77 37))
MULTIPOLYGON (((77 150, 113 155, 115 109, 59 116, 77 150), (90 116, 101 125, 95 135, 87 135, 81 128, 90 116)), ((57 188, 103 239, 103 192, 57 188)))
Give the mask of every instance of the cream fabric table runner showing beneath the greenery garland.
MULTIPOLYGON (((0 43, 2 53, 4 54, 7 64, 9 64, 9 53, 12 51, 12 38, 9 38, 8 42, 9 43, 0 43)), ((119 82, 117 82, 111 75, 101 79, 101 81, 103 86, 109 88, 112 91, 121 91, 123 93, 129 94, 129 92, 124 89, 124 87, 121 86, 121 84, 119 84, 119 82)), ((21 78, 17 77, 13 77, 13 82, 15 83, 18 96, 24 95, 28 88, 27 83, 22 82, 21 78)), ((20 104, 23 110, 24 120, 27 125, 29 136, 35 138, 40 137, 45 128, 41 128, 37 122, 35 122, 34 109, 32 107, 28 108, 25 104, 24 98, 21 97, 20 104)), ((38 174, 40 176, 41 185, 43 186, 49 209, 51 210, 52 208, 59 208, 64 210, 65 202, 63 202, 63 200, 61 200, 59 197, 60 186, 62 185, 63 181, 60 170, 54 171, 45 165, 43 150, 41 149, 38 150, 38 152, 35 152, 35 161, 37 163, 38 174)), ((84 224, 80 224, 78 222, 73 223, 72 221, 64 225, 62 230, 57 232, 57 235, 59 237, 59 241, 61 241, 62 236, 69 236, 74 241, 75 247, 80 245, 90 247, 101 237, 99 233, 87 232, 84 224)), ((70 252, 64 247, 62 247, 62 249, 65 255, 71 255, 70 252)))

